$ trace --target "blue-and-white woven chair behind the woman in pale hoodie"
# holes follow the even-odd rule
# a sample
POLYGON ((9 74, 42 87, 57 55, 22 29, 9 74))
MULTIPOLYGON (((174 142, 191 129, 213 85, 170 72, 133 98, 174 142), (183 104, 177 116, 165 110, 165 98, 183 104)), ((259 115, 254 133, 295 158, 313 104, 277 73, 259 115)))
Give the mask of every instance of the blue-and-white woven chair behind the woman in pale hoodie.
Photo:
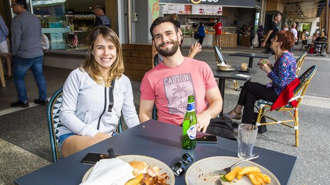
MULTIPOLYGON (((59 111, 62 104, 63 88, 58 89, 49 101, 47 107, 47 122, 49 131, 50 148, 52 151, 53 162, 58 161, 61 157, 58 149, 58 128, 62 126, 59 120, 59 111)), ((121 118, 118 121, 117 131, 122 131, 121 118)))

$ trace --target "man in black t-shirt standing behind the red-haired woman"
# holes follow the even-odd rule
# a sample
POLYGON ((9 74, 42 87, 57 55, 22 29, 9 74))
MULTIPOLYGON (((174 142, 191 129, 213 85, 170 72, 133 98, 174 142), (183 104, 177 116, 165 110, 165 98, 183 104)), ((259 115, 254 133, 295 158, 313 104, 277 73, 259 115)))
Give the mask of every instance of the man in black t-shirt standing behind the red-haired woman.
POLYGON ((281 20, 282 20, 281 14, 277 13, 274 15, 274 21, 272 22, 268 30, 265 40, 261 43, 261 47, 265 47, 267 43, 266 53, 268 54, 271 53, 272 55, 275 55, 273 50, 270 49, 270 45, 271 45, 271 40, 276 36, 277 32, 279 31, 277 24, 281 22, 281 20))

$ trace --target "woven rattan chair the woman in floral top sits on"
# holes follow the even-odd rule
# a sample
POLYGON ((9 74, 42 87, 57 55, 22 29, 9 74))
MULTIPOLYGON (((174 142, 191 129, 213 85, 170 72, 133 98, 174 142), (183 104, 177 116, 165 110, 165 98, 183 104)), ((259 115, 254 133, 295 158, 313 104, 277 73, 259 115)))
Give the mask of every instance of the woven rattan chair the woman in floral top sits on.
POLYGON ((278 112, 280 112, 280 111, 287 112, 292 119, 280 121, 275 118, 267 116, 266 114, 270 112, 273 102, 259 100, 259 101, 257 101, 259 112, 258 112, 258 116, 257 116, 255 125, 260 126, 260 125, 282 124, 282 125, 288 126, 290 128, 293 128, 295 131, 295 146, 298 147, 299 146, 299 129, 298 129, 299 128, 299 111, 298 110, 299 110, 299 106, 304 98, 305 92, 309 86, 309 83, 310 83, 311 79, 313 78, 315 72, 316 72, 316 66, 312 66, 309 69, 307 69, 299 77, 301 84, 298 85, 294 89, 294 96, 289 101, 289 102, 291 102, 293 100, 297 101, 298 104, 296 105, 296 107, 292 107, 291 104, 288 103, 287 105, 276 109, 276 111, 278 111, 278 112), (292 112, 293 112, 293 114, 292 114, 292 112), (272 120, 273 122, 260 123, 260 120, 262 117, 268 118, 268 119, 272 120), (293 122, 293 124, 292 124, 292 122, 293 122), (291 123, 291 124, 289 124, 289 123, 291 123))

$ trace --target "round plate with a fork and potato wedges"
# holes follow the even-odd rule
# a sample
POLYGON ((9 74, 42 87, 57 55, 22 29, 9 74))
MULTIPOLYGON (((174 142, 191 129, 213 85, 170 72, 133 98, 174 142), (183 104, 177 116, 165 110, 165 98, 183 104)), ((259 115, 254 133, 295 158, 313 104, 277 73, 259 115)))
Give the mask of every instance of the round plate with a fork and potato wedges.
MULTIPOLYGON (((201 159, 195 163, 193 163, 187 170, 185 175, 185 181, 186 185, 214 185, 216 184, 216 180, 218 178, 210 178, 203 180, 202 177, 208 177, 213 176, 214 173, 212 173, 215 170, 221 170, 225 167, 232 166, 234 163, 241 161, 242 159, 237 157, 227 157, 227 156, 216 156, 216 157, 209 157, 205 159, 201 159)), ((275 177, 275 175, 270 172, 268 169, 266 169, 263 166, 260 166, 257 163, 246 161, 240 165, 240 167, 245 166, 256 166, 261 170, 261 173, 266 174, 271 177, 271 183, 274 185, 280 185, 280 182, 275 177)), ((221 181, 223 185, 248 185, 252 184, 250 179, 247 176, 244 176, 240 180, 237 180, 235 178, 236 182, 224 182, 221 181)))

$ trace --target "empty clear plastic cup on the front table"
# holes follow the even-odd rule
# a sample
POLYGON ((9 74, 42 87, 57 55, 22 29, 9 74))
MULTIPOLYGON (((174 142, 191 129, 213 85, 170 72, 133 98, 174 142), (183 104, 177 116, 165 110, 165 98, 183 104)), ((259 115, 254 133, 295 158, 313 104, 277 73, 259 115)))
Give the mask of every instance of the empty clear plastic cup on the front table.
POLYGON ((251 124, 240 124, 238 126, 238 152, 241 159, 252 156, 255 139, 257 137, 258 127, 251 124))

